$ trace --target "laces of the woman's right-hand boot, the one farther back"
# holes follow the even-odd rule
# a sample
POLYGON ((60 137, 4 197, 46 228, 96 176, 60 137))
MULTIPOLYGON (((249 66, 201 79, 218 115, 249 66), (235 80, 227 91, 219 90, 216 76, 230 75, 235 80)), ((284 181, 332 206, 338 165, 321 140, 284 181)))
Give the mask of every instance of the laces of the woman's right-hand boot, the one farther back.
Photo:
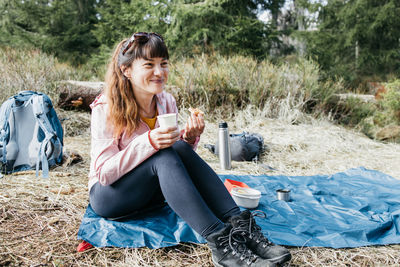
POLYGON ((261 227, 256 224, 254 217, 266 218, 267 215, 261 210, 253 211, 250 213, 249 219, 238 220, 238 231, 240 231, 242 235, 248 234, 250 239, 255 240, 257 244, 261 243, 264 248, 272 246, 273 243, 263 235, 261 227))

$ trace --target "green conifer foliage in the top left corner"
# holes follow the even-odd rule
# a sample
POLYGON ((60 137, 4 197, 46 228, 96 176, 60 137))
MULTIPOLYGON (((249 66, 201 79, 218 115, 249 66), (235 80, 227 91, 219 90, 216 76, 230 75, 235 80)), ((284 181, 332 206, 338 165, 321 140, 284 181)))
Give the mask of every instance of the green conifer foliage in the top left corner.
POLYGON ((98 46, 96 0, 8 0, 1 5, 3 45, 30 46, 79 64, 98 46))

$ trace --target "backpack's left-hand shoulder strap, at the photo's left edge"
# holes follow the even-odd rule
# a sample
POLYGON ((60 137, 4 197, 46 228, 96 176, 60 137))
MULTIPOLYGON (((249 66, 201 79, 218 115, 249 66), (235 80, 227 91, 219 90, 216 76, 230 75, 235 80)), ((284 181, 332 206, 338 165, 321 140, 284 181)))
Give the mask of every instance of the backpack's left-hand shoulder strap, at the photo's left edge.
POLYGON ((15 98, 10 97, 0 108, 0 155, 2 155, 2 163, 7 163, 7 137, 10 134, 8 119, 10 117, 11 110, 15 104, 15 98))

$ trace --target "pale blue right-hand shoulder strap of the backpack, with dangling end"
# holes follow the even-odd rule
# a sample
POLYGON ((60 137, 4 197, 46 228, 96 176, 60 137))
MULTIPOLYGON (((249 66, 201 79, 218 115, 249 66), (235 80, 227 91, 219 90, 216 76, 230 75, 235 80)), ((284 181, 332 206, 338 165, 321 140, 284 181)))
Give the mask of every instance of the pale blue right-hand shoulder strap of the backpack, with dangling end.
POLYGON ((35 114, 36 121, 39 127, 43 130, 45 137, 40 144, 38 159, 36 162, 36 177, 39 176, 39 164, 42 163, 43 177, 49 177, 49 163, 46 155, 46 149, 48 146, 52 146, 51 139, 55 139, 54 145, 52 147, 52 153, 55 157, 58 157, 61 153, 61 141, 50 124, 49 119, 45 113, 44 107, 44 96, 43 95, 32 95, 32 109, 35 114))

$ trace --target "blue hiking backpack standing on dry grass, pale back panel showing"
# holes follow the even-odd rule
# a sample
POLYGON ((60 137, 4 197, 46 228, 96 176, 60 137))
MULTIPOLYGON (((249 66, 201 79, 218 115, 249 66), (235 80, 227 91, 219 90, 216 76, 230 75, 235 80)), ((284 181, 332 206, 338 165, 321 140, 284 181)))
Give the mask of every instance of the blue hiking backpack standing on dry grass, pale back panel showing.
MULTIPOLYGON (((63 129, 50 98, 33 91, 22 91, 0 107, 1 173, 43 170, 62 162, 63 129)), ((0 173, 0 176, 1 176, 0 173)))

